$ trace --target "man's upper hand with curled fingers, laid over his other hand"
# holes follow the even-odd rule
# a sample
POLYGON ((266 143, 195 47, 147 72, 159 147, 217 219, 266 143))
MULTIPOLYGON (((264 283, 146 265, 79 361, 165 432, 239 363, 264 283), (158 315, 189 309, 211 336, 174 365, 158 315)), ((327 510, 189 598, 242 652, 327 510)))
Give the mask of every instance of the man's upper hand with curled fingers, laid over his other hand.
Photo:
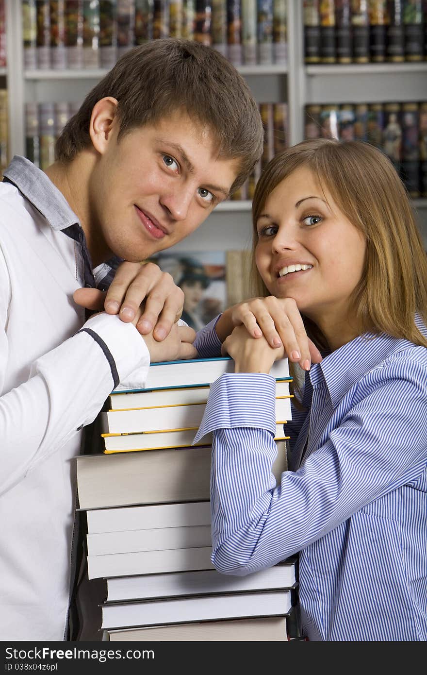
POLYGON ((167 272, 154 263, 121 263, 107 293, 95 288, 78 288, 74 301, 87 309, 118 314, 129 323, 136 317, 144 302, 136 324, 141 335, 152 332, 154 340, 161 342, 171 332, 173 324, 182 314, 184 294, 175 286, 167 272), (154 329, 154 330, 153 330, 154 329))

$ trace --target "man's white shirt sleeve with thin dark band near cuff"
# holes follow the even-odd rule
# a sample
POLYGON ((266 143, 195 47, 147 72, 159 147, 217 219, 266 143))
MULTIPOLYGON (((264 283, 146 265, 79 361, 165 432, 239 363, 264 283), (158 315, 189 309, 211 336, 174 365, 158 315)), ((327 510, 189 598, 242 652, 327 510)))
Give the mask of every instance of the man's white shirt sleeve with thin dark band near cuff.
MULTIPOLYGON (((0 391, 8 362, 10 296, 0 251, 0 391)), ((0 493, 73 436, 78 443, 80 429, 94 420, 115 384, 138 378, 143 386, 149 363, 134 325, 107 314, 91 317, 76 335, 40 356, 27 381, 0 396, 0 493)))

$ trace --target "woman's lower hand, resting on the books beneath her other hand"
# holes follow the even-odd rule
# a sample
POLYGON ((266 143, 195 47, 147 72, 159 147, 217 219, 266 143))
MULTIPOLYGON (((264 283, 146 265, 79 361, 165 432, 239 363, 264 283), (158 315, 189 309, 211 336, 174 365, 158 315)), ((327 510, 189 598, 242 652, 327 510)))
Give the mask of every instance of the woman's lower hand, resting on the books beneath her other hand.
POLYGON ((222 354, 229 354, 235 361, 235 373, 269 373, 273 363, 285 356, 282 347, 271 347, 264 335, 252 338, 244 325, 236 326, 225 338, 222 354))

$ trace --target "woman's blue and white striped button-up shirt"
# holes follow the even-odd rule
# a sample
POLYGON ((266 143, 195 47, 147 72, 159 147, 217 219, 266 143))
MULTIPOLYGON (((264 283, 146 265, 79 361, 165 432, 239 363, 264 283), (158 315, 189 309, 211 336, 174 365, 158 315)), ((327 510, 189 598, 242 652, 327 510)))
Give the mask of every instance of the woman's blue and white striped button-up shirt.
MULTIPOLYGON (((214 324, 198 334, 203 356, 218 353, 214 324)), ((213 564, 245 575, 300 551, 310 640, 425 641, 426 348, 361 335, 312 365, 302 403, 276 487, 273 377, 211 385, 195 440, 213 432, 213 564)))

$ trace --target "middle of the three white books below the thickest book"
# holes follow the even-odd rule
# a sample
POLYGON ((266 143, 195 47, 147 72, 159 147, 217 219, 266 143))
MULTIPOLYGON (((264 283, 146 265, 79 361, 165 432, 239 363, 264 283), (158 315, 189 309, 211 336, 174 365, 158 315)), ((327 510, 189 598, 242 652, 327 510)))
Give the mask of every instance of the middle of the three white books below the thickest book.
POLYGON ((165 551, 210 546, 210 523, 181 527, 157 527, 152 530, 99 532, 87 535, 89 556, 114 553, 165 551))

